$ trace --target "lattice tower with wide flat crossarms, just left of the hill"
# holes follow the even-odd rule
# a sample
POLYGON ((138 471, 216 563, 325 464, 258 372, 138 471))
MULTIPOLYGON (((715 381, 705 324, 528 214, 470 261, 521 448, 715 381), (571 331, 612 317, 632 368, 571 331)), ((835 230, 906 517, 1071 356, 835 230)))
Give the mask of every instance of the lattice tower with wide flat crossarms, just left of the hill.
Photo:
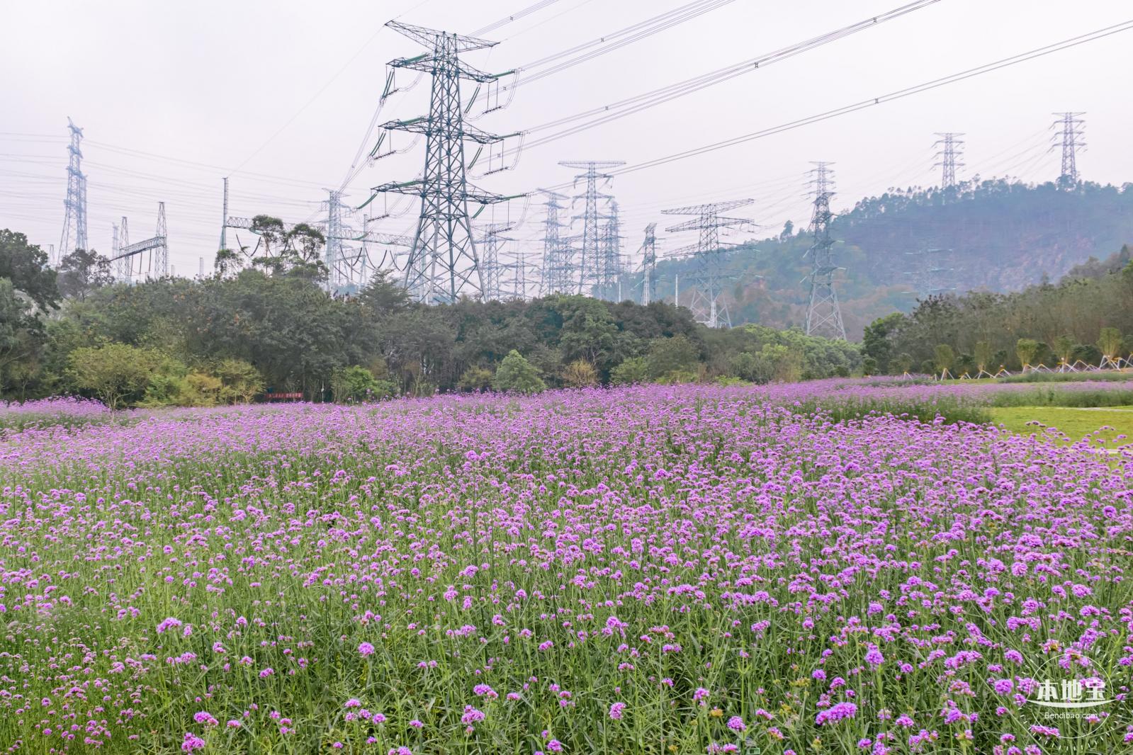
POLYGON ((661 211, 665 215, 696 215, 695 218, 665 229, 668 232, 699 231, 696 243, 681 247, 673 251, 674 257, 692 259, 692 295, 689 309, 697 321, 708 327, 732 327, 732 318, 727 311, 727 302, 721 293, 724 283, 735 280, 736 275, 727 269, 727 247, 734 246, 721 241, 721 229, 742 229, 752 226, 747 217, 722 217, 721 213, 752 204, 752 199, 733 199, 717 201, 710 205, 695 207, 676 207, 661 211))

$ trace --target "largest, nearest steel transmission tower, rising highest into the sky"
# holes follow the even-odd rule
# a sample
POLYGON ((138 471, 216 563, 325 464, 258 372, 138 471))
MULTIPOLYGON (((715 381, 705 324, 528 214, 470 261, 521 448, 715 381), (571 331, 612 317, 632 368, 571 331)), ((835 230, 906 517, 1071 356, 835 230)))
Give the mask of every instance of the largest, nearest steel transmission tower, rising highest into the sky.
POLYGON ((414 299, 428 303, 454 302, 462 295, 480 299, 484 297, 484 277, 476 256, 468 203, 488 205, 513 197, 488 194, 468 183, 465 141, 474 141, 482 149, 487 146, 491 151, 492 145, 502 143, 506 137, 486 134, 465 123, 460 102, 461 80, 491 84, 502 75, 471 68, 460 61, 460 54, 496 43, 399 22, 389 22, 386 26, 428 49, 428 52, 412 58, 392 60, 390 66, 426 72, 433 78, 428 115, 390 121, 383 126, 387 130, 425 135, 425 171, 421 178, 384 183, 374 189, 376 192, 392 191, 421 199, 417 233, 407 260, 406 288, 414 299))

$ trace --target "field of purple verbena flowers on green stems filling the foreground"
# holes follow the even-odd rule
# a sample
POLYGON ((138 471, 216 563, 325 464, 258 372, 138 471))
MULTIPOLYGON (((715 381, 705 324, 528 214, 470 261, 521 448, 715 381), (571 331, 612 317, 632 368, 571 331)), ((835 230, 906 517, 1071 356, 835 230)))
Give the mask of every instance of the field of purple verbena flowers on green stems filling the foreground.
POLYGON ((0 749, 1130 752, 1133 456, 798 411, 990 389, 11 430, 0 749), (1051 718, 1048 683, 1105 704, 1051 718))

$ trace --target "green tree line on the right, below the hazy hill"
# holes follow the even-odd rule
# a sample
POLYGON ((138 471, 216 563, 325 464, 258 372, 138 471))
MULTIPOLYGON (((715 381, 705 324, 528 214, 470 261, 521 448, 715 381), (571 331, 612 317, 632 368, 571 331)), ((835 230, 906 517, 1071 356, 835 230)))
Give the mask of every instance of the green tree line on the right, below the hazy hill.
POLYGON ((1090 258, 1058 281, 1013 293, 970 292, 920 301, 908 314, 870 324, 863 369, 954 376, 1079 362, 1092 366, 1133 354, 1133 250, 1090 258))

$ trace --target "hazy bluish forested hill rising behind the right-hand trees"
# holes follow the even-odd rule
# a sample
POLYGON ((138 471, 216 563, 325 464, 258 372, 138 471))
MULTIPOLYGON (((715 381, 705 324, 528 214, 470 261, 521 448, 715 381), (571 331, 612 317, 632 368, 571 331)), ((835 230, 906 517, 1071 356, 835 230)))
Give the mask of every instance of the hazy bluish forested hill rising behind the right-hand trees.
MULTIPOLYGON (((808 222, 799 218, 781 235, 731 252, 738 274, 729 291, 733 324, 803 323, 808 222)), ((919 293, 1016 291, 1109 256, 1133 242, 1133 185, 1064 190, 994 180, 948 190, 898 189, 842 211, 832 228, 835 261, 845 268, 838 298, 846 333, 858 340, 875 318, 911 310, 919 293)), ((672 297, 674 273, 690 280, 688 263, 659 267, 662 295, 672 297)))

